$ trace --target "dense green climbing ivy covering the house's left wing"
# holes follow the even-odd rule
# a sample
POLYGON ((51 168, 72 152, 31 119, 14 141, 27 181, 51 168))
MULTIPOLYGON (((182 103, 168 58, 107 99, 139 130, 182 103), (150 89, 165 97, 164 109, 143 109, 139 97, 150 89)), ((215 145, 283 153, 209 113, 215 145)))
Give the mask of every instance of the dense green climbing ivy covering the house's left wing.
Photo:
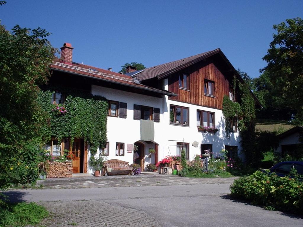
POLYGON ((41 91, 39 103, 48 115, 48 123, 43 127, 43 139, 51 137, 84 138, 90 145, 91 156, 97 153, 99 146, 106 142, 106 123, 108 102, 102 96, 90 94, 71 94, 64 105, 51 104, 52 94, 49 90, 41 91), (63 110, 62 113, 59 110, 63 110))

